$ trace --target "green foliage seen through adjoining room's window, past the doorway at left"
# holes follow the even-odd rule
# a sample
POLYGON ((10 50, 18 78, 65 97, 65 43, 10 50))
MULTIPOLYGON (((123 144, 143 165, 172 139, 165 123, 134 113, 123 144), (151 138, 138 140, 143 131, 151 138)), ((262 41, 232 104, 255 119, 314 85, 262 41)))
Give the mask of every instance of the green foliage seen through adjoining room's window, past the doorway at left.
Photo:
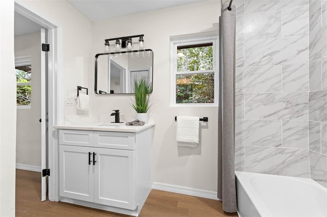
POLYGON ((30 105, 31 104, 31 66, 19 66, 16 67, 16 83, 17 83, 17 105, 30 105))

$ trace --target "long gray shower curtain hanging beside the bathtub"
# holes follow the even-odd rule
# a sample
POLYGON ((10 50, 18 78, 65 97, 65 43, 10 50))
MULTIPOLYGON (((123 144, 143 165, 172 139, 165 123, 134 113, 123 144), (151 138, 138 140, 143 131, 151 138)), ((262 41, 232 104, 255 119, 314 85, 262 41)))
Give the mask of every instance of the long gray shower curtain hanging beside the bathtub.
POLYGON ((235 148, 235 12, 222 5, 219 18, 218 198, 225 212, 237 212, 235 148))

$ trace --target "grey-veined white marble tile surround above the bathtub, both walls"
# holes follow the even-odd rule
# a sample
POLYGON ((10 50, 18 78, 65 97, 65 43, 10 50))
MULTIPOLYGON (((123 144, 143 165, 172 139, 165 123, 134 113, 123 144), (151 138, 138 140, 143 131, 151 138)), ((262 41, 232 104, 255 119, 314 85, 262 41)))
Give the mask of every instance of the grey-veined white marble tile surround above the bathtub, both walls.
POLYGON ((322 13, 325 8, 320 6, 317 24, 311 11, 319 7, 309 0, 235 0, 233 4, 237 7, 235 169, 313 176, 322 183, 326 159, 320 153, 327 152, 321 145, 327 141, 327 123, 316 119, 324 120, 327 92, 314 92, 322 87, 327 91, 323 56, 327 40, 320 39, 326 31, 313 29, 320 36, 316 37, 311 28, 327 20, 322 17, 327 11, 322 13))

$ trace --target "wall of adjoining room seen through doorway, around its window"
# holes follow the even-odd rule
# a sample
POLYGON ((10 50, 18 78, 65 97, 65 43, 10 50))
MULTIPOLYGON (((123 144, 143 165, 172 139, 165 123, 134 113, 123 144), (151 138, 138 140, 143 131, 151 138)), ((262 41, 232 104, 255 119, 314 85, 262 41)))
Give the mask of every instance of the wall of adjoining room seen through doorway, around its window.
POLYGON ((15 57, 29 55, 32 101, 31 108, 17 108, 16 163, 41 167, 41 33, 15 37, 15 57))

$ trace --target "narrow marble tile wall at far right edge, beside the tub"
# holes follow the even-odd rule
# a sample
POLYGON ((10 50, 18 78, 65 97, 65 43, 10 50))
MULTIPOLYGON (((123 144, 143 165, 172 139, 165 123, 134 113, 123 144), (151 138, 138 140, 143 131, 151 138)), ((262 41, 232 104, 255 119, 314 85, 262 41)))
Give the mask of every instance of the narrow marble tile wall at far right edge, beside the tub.
POLYGON ((309 0, 310 175, 327 187, 327 0, 309 0))

